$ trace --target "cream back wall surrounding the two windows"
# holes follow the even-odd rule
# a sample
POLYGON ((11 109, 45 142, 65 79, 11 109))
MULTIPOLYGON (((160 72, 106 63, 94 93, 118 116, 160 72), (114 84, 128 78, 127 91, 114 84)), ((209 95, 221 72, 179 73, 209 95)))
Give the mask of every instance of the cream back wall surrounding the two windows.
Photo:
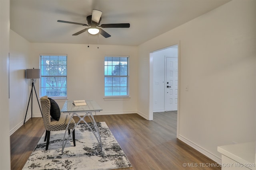
MULTIPOLYGON (((137 47, 118 45, 32 43, 31 66, 39 68, 40 54, 67 54, 68 100, 95 100, 103 109, 97 114, 137 113, 137 47), (97 48, 99 47, 99 48, 97 48), (104 100, 104 56, 128 55, 130 59, 130 99, 104 100)), ((39 94, 39 81, 35 84, 39 94)), ((65 100, 56 100, 60 107, 65 100)), ((34 108, 33 108, 34 109, 34 108)), ((41 116, 39 107, 33 115, 41 116)))

